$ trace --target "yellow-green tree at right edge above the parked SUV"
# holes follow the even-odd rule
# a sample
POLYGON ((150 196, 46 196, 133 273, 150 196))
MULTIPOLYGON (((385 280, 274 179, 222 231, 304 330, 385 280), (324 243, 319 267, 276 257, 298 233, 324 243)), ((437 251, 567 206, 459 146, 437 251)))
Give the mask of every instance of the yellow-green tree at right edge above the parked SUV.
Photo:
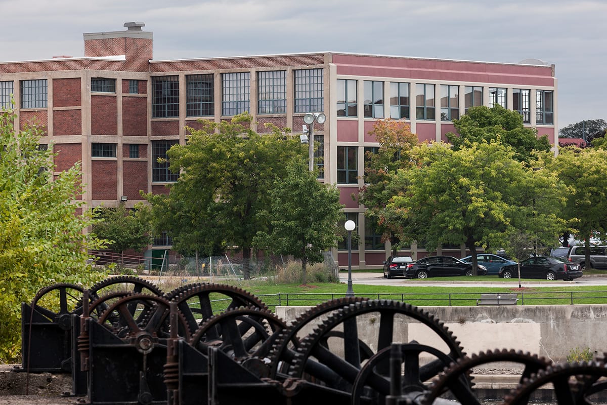
POLYGON ((555 158, 543 158, 546 167, 569 188, 564 217, 585 240, 585 263, 589 266, 592 233, 607 231, 607 150, 569 147, 560 149, 555 158))

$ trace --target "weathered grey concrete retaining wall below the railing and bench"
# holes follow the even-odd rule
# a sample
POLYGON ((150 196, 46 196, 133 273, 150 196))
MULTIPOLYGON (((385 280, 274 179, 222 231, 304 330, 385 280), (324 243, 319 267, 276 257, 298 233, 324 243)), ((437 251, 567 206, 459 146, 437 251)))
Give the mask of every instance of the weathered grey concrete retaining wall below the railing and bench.
MULTIPOLYGON (((276 315, 293 321, 308 308, 276 307, 276 315)), ((566 361, 570 350, 576 347, 589 347, 599 356, 607 352, 607 305, 421 308, 443 321, 468 355, 493 349, 515 349, 552 361, 566 361)), ((368 325, 375 322, 370 318, 368 321, 368 325)), ((428 328, 417 322, 403 323, 395 325, 394 342, 415 339, 442 350, 444 344, 428 328)), ((359 334, 363 333, 368 336, 362 339, 374 341, 374 327, 359 327, 359 334)))

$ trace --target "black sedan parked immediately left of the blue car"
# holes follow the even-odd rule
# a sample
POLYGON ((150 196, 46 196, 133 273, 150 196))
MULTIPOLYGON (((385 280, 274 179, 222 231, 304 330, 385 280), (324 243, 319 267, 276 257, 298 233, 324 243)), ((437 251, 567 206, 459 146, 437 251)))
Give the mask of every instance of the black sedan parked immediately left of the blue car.
MULTIPOLYGON (((479 276, 487 274, 487 268, 479 265, 479 276)), ((442 276, 472 276, 472 263, 466 263, 452 256, 429 256, 410 264, 405 277, 426 279, 442 276)))

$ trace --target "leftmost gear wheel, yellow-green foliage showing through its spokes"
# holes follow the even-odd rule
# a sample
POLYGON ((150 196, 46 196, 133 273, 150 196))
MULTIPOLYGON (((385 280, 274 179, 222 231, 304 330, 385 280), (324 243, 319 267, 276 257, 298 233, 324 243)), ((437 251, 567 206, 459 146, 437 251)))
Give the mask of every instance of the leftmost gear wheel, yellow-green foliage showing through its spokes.
POLYGON ((82 314, 82 287, 59 283, 41 288, 32 301, 32 309, 64 330, 71 328, 71 315, 82 314))

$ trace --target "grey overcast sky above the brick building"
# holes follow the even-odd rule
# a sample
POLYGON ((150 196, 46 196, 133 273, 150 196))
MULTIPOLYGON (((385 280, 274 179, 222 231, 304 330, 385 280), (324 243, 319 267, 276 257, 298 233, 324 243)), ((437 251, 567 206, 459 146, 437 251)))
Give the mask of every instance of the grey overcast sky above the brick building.
POLYGON ((154 60, 357 52, 555 64, 558 126, 607 120, 607 0, 0 0, 0 61, 84 56, 83 33, 154 32, 154 60))

